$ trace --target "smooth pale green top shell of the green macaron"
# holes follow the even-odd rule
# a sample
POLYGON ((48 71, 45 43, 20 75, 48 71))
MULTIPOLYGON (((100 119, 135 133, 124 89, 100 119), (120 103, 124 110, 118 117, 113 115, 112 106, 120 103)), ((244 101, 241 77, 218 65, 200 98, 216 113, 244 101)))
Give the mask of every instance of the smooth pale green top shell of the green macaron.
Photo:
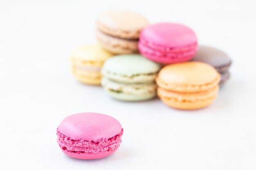
POLYGON ((117 75, 139 75, 157 73, 160 65, 139 54, 116 55, 109 58, 103 65, 102 72, 117 75))

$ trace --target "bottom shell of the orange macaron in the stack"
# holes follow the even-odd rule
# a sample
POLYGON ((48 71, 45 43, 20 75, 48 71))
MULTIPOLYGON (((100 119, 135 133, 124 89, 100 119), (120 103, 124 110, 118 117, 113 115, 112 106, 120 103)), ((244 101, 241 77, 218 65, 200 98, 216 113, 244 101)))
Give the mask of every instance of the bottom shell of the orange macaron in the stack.
POLYGON ((159 98, 171 108, 181 110, 195 110, 209 106, 218 95, 219 86, 202 93, 176 93, 166 91, 162 88, 157 89, 159 98))

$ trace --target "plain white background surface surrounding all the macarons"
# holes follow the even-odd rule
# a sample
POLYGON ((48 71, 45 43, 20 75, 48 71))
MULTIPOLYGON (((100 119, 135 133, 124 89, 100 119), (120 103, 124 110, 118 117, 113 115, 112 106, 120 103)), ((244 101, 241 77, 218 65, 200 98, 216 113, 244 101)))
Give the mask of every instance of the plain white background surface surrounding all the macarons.
POLYGON ((256 25, 253 0, 0 1, 1 170, 255 170, 256 25), (181 22, 199 43, 226 51, 231 79, 216 102, 174 110, 159 99, 118 102, 77 82, 70 51, 96 42, 95 19, 130 9, 150 22, 181 22), (66 116, 98 112, 118 119, 123 142, 110 157, 67 157, 56 142, 66 116))

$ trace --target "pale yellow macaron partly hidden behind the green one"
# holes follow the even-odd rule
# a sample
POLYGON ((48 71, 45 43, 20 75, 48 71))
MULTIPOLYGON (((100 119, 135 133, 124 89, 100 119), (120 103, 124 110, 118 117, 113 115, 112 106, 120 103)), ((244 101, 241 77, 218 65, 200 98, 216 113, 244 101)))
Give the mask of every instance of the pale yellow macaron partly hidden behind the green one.
POLYGON ((72 73, 82 83, 100 85, 101 67, 111 56, 98 44, 79 46, 70 54, 72 73))

